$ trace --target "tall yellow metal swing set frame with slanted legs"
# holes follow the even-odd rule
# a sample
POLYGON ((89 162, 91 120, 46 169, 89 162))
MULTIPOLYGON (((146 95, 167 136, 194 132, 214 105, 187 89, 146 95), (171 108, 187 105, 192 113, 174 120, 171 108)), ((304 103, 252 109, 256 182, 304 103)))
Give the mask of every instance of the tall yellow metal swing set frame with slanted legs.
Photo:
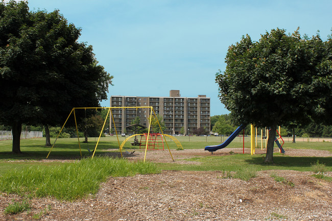
MULTIPOLYGON (((149 135, 150 135, 150 127, 151 127, 152 116, 154 116, 154 117, 156 118, 156 121, 158 122, 158 126, 159 126, 159 129, 160 129, 160 131, 161 131, 162 136, 165 136, 165 135, 163 134, 163 132, 162 132, 161 126, 160 126, 159 121, 158 121, 158 118, 157 118, 157 116, 156 116, 156 114, 155 114, 155 112, 154 112, 154 110, 153 110, 153 107, 81 107, 81 108, 73 108, 72 111, 69 113, 67 119, 65 120, 65 122, 64 122, 64 124, 63 124, 63 126, 62 126, 62 128, 61 128, 61 130, 60 130, 60 132, 59 132, 59 134, 58 134, 58 136, 57 136, 57 138, 55 139, 55 141, 54 141, 54 143, 53 143, 53 145, 52 145, 52 148, 51 148, 51 150, 50 150, 48 156, 46 157, 46 159, 50 156, 50 153, 51 153, 52 149, 54 148, 54 145, 55 145, 57 139, 59 138, 60 133, 62 132, 64 126, 66 125, 66 122, 68 121, 69 117, 70 117, 73 113, 74 113, 74 119, 75 119, 75 126, 76 126, 76 132, 77 132, 77 137, 78 137, 78 144, 79 144, 79 149, 80 149, 80 155, 81 155, 81 157, 82 157, 81 143, 80 143, 80 137, 79 137, 79 134, 78 134, 77 120, 76 120, 76 114, 75 114, 75 111, 76 111, 76 110, 80 110, 80 109, 84 109, 84 110, 86 110, 86 109, 96 109, 96 110, 97 110, 97 109, 108 109, 108 112, 107 112, 107 115, 106 115, 106 117, 105 117, 105 121, 104 121, 103 127, 102 127, 102 129, 101 129, 101 131, 100 131, 100 135, 99 135, 98 141, 97 141, 97 143, 96 143, 96 146, 94 147, 93 154, 92 154, 92 157, 91 157, 91 158, 93 158, 94 154, 96 153, 97 146, 98 146, 98 143, 99 143, 99 141, 100 141, 100 137, 101 137, 101 135, 102 135, 102 133, 103 133, 103 131, 104 131, 104 127, 105 127, 106 121, 107 121, 107 119, 108 119, 108 116, 110 116, 110 117, 112 118, 113 125, 114 125, 114 129, 115 129, 115 134, 116 134, 116 138, 117 138, 117 143, 118 143, 118 145, 119 145, 119 149, 120 149, 121 157, 123 157, 123 156, 122 156, 122 147, 123 147, 123 145, 121 146, 121 145, 120 145, 120 141, 118 140, 117 131, 116 131, 116 127, 115 127, 115 122, 114 122, 114 118, 113 118, 113 114, 112 114, 112 109, 127 109, 127 108, 136 108, 136 109, 138 109, 138 108, 149 108, 151 112, 150 112, 150 120, 149 120, 149 128, 148 128, 148 135, 147 135, 147 136, 149 137, 149 135)), ((132 136, 130 136, 130 137, 132 137, 132 136)), ((128 139, 128 138, 127 138, 127 139, 128 139)), ((127 139, 126 139, 126 140, 127 140, 127 139)), ((171 157, 172 157, 172 160, 174 161, 173 156, 172 156, 172 153, 171 153, 171 150, 170 150, 169 145, 168 145, 168 143, 167 143, 167 140, 164 140, 164 141, 165 141, 165 143, 166 143, 166 145, 167 145, 167 148, 168 148, 168 150, 169 150, 169 152, 170 152, 170 155, 171 155, 171 157)), ((148 143, 149 143, 149 142, 146 142, 145 155, 144 155, 144 162, 145 162, 146 155, 147 155, 148 143)), ((181 146, 181 147, 182 147, 182 146, 181 146)))

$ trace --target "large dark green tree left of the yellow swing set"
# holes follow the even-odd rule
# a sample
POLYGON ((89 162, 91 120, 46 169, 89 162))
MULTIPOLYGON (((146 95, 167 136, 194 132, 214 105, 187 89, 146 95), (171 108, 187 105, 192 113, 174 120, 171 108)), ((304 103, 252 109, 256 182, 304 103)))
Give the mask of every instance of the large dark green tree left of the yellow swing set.
POLYGON ((81 30, 54 11, 0 3, 0 121, 20 153, 21 124, 62 124, 73 107, 98 107, 111 84, 81 30))

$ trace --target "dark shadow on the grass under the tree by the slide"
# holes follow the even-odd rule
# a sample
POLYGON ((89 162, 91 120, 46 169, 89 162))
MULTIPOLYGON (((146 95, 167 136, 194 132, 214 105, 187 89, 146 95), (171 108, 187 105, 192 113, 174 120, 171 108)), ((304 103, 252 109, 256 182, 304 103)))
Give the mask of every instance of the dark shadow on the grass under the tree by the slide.
POLYGON ((316 163, 319 160, 319 163, 325 164, 325 166, 332 167, 332 157, 284 157, 284 156, 274 156, 273 164, 264 163, 262 157, 252 157, 246 159, 245 162, 249 164, 256 165, 266 165, 266 166, 284 166, 284 167, 311 167, 312 164, 316 163))

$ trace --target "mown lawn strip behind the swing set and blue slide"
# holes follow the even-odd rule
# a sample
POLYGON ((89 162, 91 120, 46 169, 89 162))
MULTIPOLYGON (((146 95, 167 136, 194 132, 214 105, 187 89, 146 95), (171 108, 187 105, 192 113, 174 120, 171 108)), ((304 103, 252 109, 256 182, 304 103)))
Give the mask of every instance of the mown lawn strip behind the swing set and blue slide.
MULTIPOLYGON (((120 144, 127 137, 118 137, 120 144)), ((216 145, 225 141, 224 137, 196 137, 196 136, 176 136, 176 139, 180 141, 184 149, 204 149, 206 145, 216 145)), ((226 137, 227 138, 227 137, 226 137)), ((131 138, 124 145, 124 149, 131 149, 132 146, 130 142, 133 142, 134 138, 131 138)), ((286 143, 283 145, 283 149, 313 149, 313 150, 326 150, 332 153, 331 142, 302 142, 301 138, 298 138, 296 143, 292 143, 288 138, 284 139, 286 143)), ((94 149, 98 138, 90 137, 88 138, 89 143, 82 143, 83 139, 80 138, 81 151, 83 156, 90 156, 87 149, 94 149)), ((138 138, 140 140, 140 138, 138 138)), ((166 138, 170 149, 177 149, 177 145, 170 138, 166 138)), ((51 139, 51 143, 55 141, 54 138, 51 139)), ((12 154, 12 140, 2 140, 0 141, 0 159, 44 159, 49 151, 50 147, 45 147, 45 138, 36 139, 22 139, 21 140, 21 151, 22 155, 12 154)), ((114 149, 118 151, 118 142, 116 136, 102 137, 98 144, 96 154, 103 154, 105 150, 114 149)), ((236 137, 227 148, 242 148, 242 137, 236 137)), ((263 146, 265 146, 265 140, 263 140, 263 146)), ((137 148, 137 147, 135 147, 137 148)), ((167 149, 167 145, 164 142, 164 148, 167 149)), ((258 140, 258 149, 260 149, 260 140, 258 140)), ((245 149, 250 152, 250 137, 245 137, 245 149)), ((80 157, 80 149, 77 138, 59 138, 50 154, 50 159, 57 158, 77 158, 80 157)))

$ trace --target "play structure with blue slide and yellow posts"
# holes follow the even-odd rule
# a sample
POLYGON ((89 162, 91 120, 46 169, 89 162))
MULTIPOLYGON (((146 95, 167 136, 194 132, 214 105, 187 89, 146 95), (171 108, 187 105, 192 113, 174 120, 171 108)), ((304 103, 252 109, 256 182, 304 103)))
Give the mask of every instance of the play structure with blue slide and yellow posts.
MULTIPOLYGON (((211 154, 213 154, 214 151, 217 151, 217 150, 220 150, 220 149, 223 149, 225 148, 236 136, 238 136, 238 134, 244 130, 245 126, 243 125, 240 125, 240 127, 238 127, 226 140, 225 142, 219 144, 219 145, 211 145, 211 146, 205 146, 205 151, 209 151, 211 152, 211 154)), ((280 126, 279 126, 279 131, 280 131, 280 126)), ((279 138, 275 137, 274 141, 275 143, 277 144, 279 150, 280 150, 280 153, 285 153, 283 148, 282 148, 282 145, 284 144, 284 141, 280 135, 278 130, 276 130, 277 134, 279 135, 279 138), (279 139, 282 140, 282 144, 280 144, 280 142, 278 141, 279 139)), ((268 133, 269 130, 266 129, 266 134, 267 134, 267 137, 266 137, 266 145, 267 145, 267 140, 268 140, 268 133)), ((255 154, 255 147, 257 147, 257 128, 254 130, 254 126, 251 124, 250 126, 250 133, 251 133, 251 136, 250 136, 250 153, 251 155, 254 155, 255 154)), ((263 150, 263 129, 261 130, 261 149, 263 150)), ((244 135, 243 135, 243 153, 244 153, 244 135)))

